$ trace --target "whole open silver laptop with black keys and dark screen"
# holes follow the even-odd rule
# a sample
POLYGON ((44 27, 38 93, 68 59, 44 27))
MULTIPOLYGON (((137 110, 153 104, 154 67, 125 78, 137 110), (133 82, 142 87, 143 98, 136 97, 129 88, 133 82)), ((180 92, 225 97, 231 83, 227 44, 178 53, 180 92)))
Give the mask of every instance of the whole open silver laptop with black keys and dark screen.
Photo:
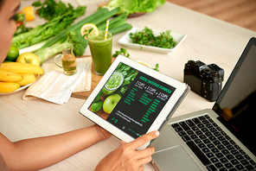
POLYGON ((170 118, 152 144, 157 170, 256 170, 256 39, 212 109, 170 118))

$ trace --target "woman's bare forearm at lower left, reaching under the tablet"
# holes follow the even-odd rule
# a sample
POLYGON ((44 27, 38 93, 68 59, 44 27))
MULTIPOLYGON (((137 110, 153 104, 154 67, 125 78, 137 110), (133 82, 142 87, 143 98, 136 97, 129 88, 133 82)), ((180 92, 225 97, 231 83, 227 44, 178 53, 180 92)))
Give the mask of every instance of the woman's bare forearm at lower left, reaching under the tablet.
POLYGON ((10 170, 38 170, 108 138, 111 134, 97 125, 56 136, 10 142, 0 133, 0 153, 10 170))

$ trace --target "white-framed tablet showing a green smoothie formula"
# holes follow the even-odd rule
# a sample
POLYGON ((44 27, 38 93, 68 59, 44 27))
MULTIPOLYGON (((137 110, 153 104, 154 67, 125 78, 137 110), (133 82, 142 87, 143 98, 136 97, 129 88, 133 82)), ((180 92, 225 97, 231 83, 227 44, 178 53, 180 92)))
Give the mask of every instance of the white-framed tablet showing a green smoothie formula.
POLYGON ((150 131, 161 131, 188 92, 189 85, 118 55, 80 114, 131 142, 150 131))

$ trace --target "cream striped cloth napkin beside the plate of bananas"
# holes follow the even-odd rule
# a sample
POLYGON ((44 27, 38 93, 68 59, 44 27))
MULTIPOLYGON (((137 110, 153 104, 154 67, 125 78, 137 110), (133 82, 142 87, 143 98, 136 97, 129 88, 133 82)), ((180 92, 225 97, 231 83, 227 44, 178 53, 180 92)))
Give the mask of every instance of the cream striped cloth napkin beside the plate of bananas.
POLYGON ((54 63, 44 63, 44 74, 30 85, 23 94, 23 99, 42 98, 55 104, 67 103, 72 92, 91 90, 92 58, 77 59, 77 73, 64 74, 63 69, 54 63))

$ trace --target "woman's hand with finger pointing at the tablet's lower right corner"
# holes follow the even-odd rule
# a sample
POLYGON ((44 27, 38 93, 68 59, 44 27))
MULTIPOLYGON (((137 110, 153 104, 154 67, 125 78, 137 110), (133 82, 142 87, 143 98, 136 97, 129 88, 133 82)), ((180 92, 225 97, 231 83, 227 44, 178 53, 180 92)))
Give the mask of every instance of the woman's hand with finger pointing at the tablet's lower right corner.
POLYGON ((153 147, 143 150, 136 149, 157 136, 159 136, 159 131, 152 131, 138 137, 132 142, 120 142, 118 149, 113 150, 110 154, 106 155, 104 159, 99 161, 95 171, 144 170, 144 164, 152 160, 151 155, 154 154, 155 149, 153 147))

